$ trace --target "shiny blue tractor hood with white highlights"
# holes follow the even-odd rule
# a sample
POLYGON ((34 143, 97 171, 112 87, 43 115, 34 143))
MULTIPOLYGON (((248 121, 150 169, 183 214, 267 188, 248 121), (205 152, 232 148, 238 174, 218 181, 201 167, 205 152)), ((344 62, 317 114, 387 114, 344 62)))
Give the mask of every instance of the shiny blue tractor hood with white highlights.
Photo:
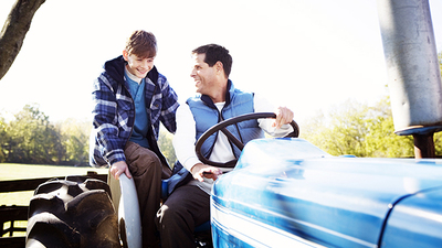
MULTIPOLYGON (((403 222, 415 226, 401 213, 429 192, 441 195, 440 160, 333 157, 303 139, 253 140, 236 168, 213 185, 213 244, 380 247, 386 229, 404 235, 403 222), (408 206, 392 215, 404 200, 408 206)), ((425 207, 439 204, 441 218, 438 201, 425 207)), ((440 230, 441 223, 434 224, 440 230)))

